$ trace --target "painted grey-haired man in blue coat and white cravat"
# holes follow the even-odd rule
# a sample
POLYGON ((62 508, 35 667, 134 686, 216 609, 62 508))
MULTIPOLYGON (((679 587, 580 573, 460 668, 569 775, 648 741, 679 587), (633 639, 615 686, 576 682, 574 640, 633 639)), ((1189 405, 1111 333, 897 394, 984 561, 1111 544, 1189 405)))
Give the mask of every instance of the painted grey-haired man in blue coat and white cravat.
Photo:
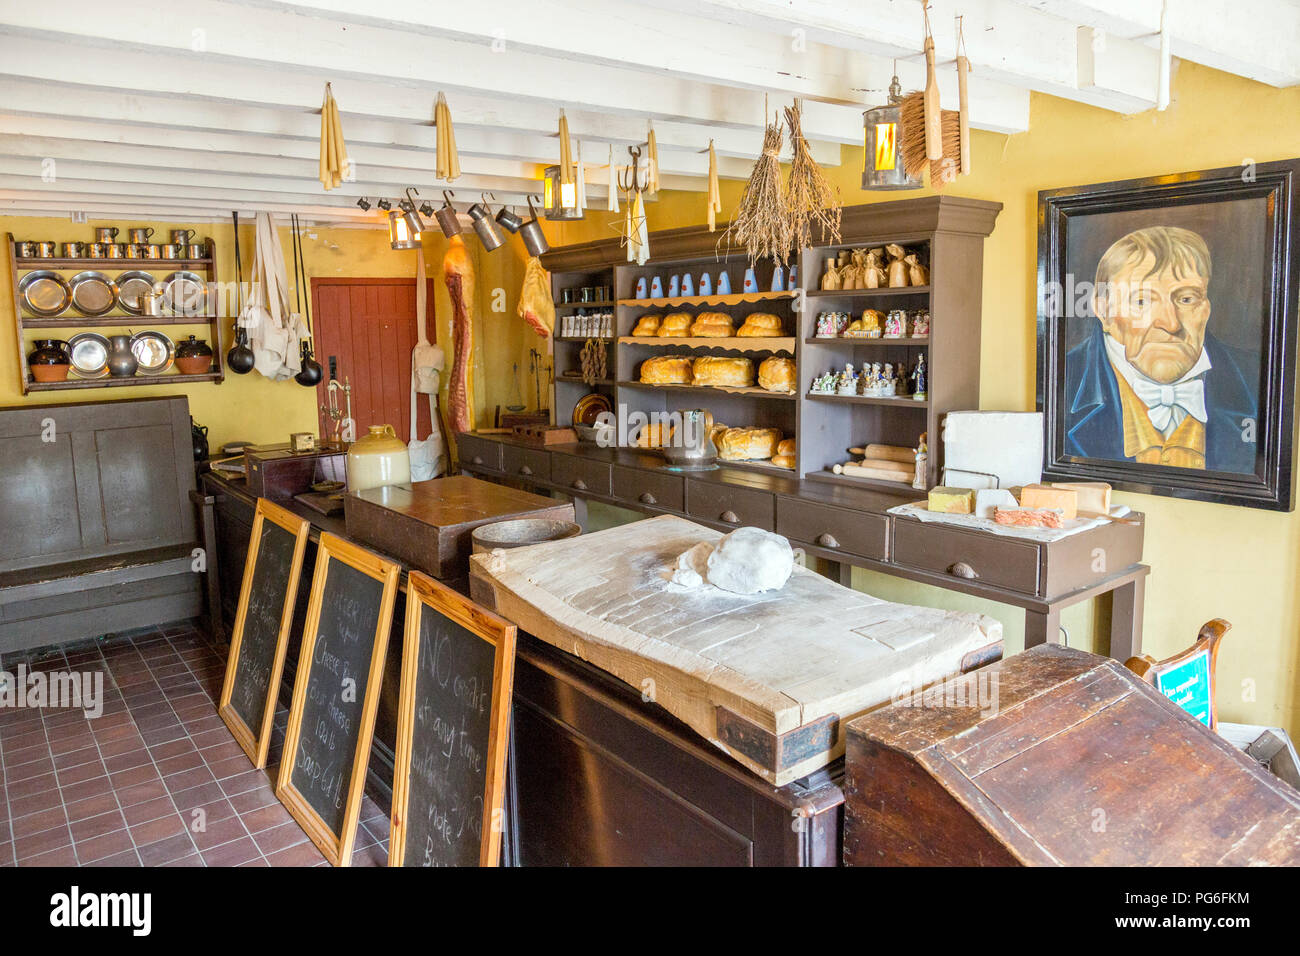
POLYGON ((1096 321, 1066 355, 1066 454, 1254 471, 1257 401, 1242 352, 1209 330, 1209 284, 1190 229, 1138 229, 1102 254, 1096 321))

